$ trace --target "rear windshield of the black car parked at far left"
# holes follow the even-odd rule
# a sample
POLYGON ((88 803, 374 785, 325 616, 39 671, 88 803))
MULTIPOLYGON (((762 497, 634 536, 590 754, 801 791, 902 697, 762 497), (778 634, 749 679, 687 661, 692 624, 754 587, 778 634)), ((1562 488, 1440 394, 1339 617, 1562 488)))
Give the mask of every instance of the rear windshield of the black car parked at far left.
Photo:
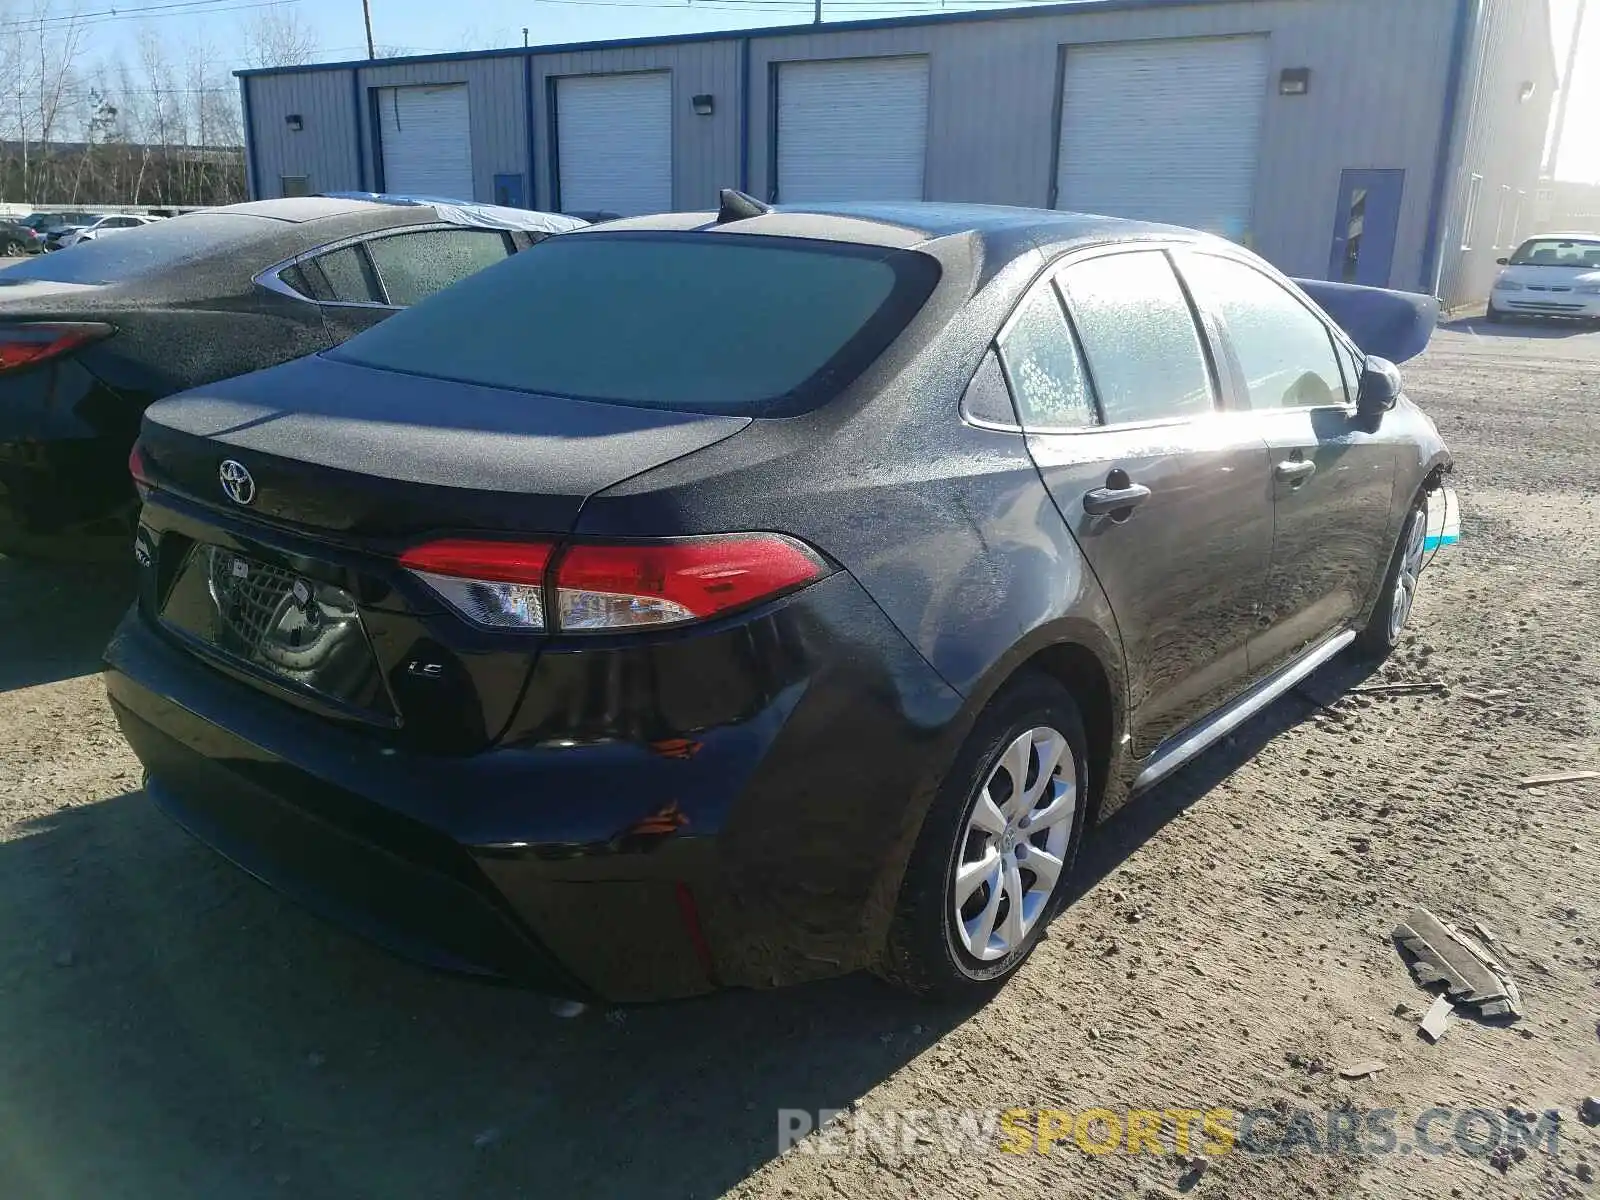
POLYGON ((122 283, 181 262, 248 245, 272 227, 259 216, 194 213, 130 229, 117 237, 82 242, 5 269, 6 282, 42 278, 56 283, 122 283))

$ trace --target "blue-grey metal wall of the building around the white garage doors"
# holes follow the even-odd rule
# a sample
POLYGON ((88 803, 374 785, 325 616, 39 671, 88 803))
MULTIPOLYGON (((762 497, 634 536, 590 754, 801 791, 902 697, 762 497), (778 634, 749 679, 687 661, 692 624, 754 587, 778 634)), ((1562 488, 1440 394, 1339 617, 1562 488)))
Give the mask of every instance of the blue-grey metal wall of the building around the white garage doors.
MULTIPOLYGON (((1525 0, 1494 0, 1523 3, 1525 0)), ((1526 0, 1542 8, 1544 0, 1526 0)), ((536 147, 550 130, 549 80, 560 75, 670 70, 674 104, 674 205, 709 208, 717 189, 771 186, 773 64, 813 58, 928 54, 931 70, 926 194, 939 200, 1048 205, 1056 178, 1056 112, 1062 46, 1147 37, 1266 34, 1270 80, 1264 98, 1251 243, 1294 274, 1328 264, 1341 173, 1406 171, 1394 280, 1424 275, 1427 213, 1443 126, 1456 0, 1214 0, 1211 3, 1048 5, 1022 13, 946 14, 933 19, 747 30, 739 35, 659 38, 570 50, 490 51, 402 59, 360 69, 360 86, 466 83, 470 90, 472 155, 478 198, 493 197, 502 173, 530 173, 533 203, 550 203, 554 173, 536 147), (1280 96, 1277 75, 1309 67, 1306 96, 1280 96), (690 98, 715 98, 696 117, 690 98)), ((253 123, 266 181, 293 170, 296 147, 272 126, 285 106, 315 106, 318 80, 336 72, 304 69, 253 75, 261 110, 253 123), (272 91, 272 102, 262 96, 272 91)), ((347 77, 342 77, 347 78, 347 77)), ((346 86, 349 86, 346 83, 346 86)), ((349 99, 331 110, 347 114, 349 99)), ((365 120, 363 107, 363 120, 365 120)), ((347 120, 347 118, 344 118, 347 120)), ((317 117, 318 125, 323 117, 317 117)), ((349 162, 357 131, 339 125, 310 171, 317 187, 349 162)), ((310 125, 307 125, 310 133, 310 125)), ((302 134, 304 136, 304 134, 302 134)), ((318 133, 315 141, 322 142, 318 133)), ((371 130, 370 155, 378 154, 371 130)), ((1070 152, 1070 150, 1069 150, 1070 152)), ((304 154, 301 158, 307 157, 304 154)), ((376 171, 368 165, 368 179, 376 171)), ((325 182, 330 179, 330 182, 325 182)), ((264 190, 262 194, 275 194, 264 190)))

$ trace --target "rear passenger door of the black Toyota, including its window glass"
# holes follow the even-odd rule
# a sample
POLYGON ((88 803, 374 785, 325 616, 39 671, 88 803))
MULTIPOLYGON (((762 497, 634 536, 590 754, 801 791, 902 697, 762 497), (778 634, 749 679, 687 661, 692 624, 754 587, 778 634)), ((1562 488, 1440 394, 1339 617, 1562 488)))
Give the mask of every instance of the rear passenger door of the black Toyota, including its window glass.
POLYGON ((1272 549, 1266 443, 1218 408, 1160 248, 1069 261, 1000 338, 1029 451, 1110 600, 1134 752, 1245 686, 1272 549))

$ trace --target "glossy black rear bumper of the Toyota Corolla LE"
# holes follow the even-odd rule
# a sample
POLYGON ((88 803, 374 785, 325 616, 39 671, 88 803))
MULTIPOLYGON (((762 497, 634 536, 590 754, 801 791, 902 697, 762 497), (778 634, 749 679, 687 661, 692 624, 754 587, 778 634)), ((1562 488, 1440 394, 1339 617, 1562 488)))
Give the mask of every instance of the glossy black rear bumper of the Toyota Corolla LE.
POLYGON ((224 677, 138 610, 106 682, 152 800, 312 910, 432 966, 658 1000, 870 963, 958 712, 848 576, 758 622, 790 648, 805 630, 802 677, 651 744, 386 747, 224 677))

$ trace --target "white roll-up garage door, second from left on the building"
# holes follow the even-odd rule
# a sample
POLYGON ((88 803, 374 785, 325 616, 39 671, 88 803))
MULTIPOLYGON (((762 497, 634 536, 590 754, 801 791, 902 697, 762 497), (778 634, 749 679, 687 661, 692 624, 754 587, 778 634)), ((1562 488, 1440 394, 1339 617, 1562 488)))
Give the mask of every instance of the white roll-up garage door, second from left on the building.
POLYGON ((672 210, 672 75, 555 82, 555 157, 565 213, 672 210))

